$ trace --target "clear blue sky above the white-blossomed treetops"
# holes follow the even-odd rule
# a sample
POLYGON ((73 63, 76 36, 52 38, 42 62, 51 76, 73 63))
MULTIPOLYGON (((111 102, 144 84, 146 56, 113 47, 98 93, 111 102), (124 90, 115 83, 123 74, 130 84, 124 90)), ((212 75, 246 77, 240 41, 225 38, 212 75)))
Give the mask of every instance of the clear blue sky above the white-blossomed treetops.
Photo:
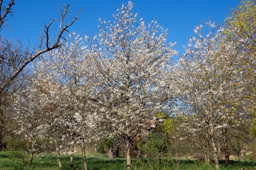
MULTIPOLYGON (((52 18, 58 18, 60 11, 58 4, 70 3, 70 14, 74 17, 77 11, 84 6, 77 20, 69 29, 81 35, 87 32, 90 37, 99 31, 99 16, 102 19, 113 20, 112 14, 121 4, 128 3, 128 0, 15 0, 15 12, 13 17, 9 16, 7 22, 11 28, 5 28, 5 37, 20 38, 24 44, 29 39, 29 44, 38 43, 40 30, 52 18)), ((132 0, 134 12, 138 12, 138 20, 144 17, 146 23, 151 20, 158 20, 163 28, 169 28, 167 42, 177 42, 175 48, 183 52, 181 45, 187 43, 193 34, 193 28, 200 25, 202 20, 213 18, 221 25, 230 11, 230 6, 236 8, 239 0, 132 0)), ((7 3, 7 0, 4 0, 7 3)), ((52 29, 58 30, 58 22, 55 22, 52 29)))

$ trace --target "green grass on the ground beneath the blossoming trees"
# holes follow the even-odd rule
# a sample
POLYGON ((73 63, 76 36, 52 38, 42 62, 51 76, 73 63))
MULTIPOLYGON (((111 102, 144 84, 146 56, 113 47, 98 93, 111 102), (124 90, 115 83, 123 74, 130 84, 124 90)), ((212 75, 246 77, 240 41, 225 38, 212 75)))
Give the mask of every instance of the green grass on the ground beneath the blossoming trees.
MULTIPOLYGON (((61 170, 68 170, 69 155, 62 155, 61 170)), ((57 156, 35 155, 32 164, 27 164, 27 155, 17 151, 0 152, 0 170, 60 170, 58 168, 57 156)), ((125 158, 108 159, 107 156, 100 155, 91 157, 87 155, 89 170, 124 170, 125 158)), ((214 164, 206 165, 202 160, 191 159, 160 159, 159 161, 150 161, 143 159, 143 162, 136 164, 133 161, 133 170, 214 170, 214 164)), ((239 170, 239 168, 256 170, 255 161, 231 160, 232 165, 225 166, 225 161, 220 160, 221 170, 239 170)), ((83 162, 80 154, 74 155, 74 170, 82 170, 83 162)))

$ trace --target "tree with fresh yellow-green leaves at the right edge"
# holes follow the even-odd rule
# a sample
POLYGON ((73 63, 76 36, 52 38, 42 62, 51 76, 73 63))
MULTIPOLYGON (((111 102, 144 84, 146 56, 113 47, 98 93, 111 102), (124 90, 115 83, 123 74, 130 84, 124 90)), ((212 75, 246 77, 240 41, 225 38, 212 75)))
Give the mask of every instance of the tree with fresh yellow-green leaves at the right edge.
MULTIPOLYGON (((227 55, 227 62, 225 64, 232 63, 235 65, 237 74, 239 75, 236 79, 236 86, 243 91, 244 99, 242 106, 252 116, 255 116, 256 113, 255 37, 256 1, 241 1, 237 9, 231 8, 231 14, 224 23, 222 45, 226 51, 233 52, 232 55, 227 55), (229 45, 229 48, 226 47, 227 45, 229 45)), ((255 135, 255 119, 251 126, 251 134, 255 135)))

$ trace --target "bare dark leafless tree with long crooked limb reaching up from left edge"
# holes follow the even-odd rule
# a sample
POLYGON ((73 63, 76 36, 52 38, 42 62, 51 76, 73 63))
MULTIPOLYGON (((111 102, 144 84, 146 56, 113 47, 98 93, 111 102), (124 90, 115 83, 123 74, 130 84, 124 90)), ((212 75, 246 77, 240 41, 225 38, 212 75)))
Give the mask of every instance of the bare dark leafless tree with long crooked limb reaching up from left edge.
MULTIPOLYGON (((14 0, 10 0, 7 7, 2 7, 3 0, 0 0, 0 31, 7 26, 6 17, 13 12, 12 6, 15 5, 14 0), (3 15, 1 15, 3 13, 3 15)), ((2 150, 3 138, 6 135, 5 124, 8 122, 8 116, 3 111, 3 99, 8 95, 9 87, 16 81, 18 75, 34 59, 41 56, 41 54, 51 51, 52 49, 59 48, 64 38, 64 32, 68 32, 69 28, 78 18, 78 11, 70 22, 66 23, 67 14, 70 4, 64 5, 64 9, 60 6, 61 17, 59 23, 59 32, 55 35, 55 41, 51 43, 51 34, 49 30, 52 23, 56 19, 52 19, 49 25, 44 24, 42 27, 41 40, 37 48, 30 49, 29 46, 23 46, 20 40, 9 40, 3 36, 0 37, 0 151, 2 150)))

